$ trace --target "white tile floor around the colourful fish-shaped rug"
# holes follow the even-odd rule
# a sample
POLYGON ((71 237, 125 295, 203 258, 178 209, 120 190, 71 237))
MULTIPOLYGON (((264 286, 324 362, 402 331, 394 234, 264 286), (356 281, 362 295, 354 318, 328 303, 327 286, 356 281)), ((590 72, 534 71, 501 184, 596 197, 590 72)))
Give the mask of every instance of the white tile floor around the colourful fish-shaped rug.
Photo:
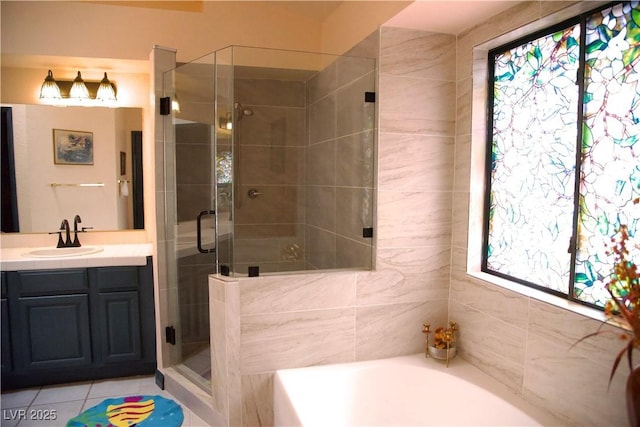
POLYGON ((95 406, 104 399, 132 394, 161 395, 173 399, 182 406, 183 427, 209 427, 209 424, 192 413, 184 404, 161 390, 153 376, 125 377, 97 380, 3 392, 0 396, 2 427, 64 427, 70 418, 95 406), (19 410, 25 411, 19 411, 19 410), (33 412, 34 410, 42 410, 33 412), (54 411, 55 410, 55 411, 54 411), (22 414, 55 413, 55 420, 29 420, 22 414), (22 419, 21 419, 22 418, 22 419))

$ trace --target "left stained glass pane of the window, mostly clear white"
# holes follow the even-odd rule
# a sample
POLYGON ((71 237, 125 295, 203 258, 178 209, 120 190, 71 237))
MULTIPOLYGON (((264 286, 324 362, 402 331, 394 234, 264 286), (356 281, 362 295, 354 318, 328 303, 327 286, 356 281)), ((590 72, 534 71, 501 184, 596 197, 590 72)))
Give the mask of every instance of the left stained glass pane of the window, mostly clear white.
POLYGON ((490 271, 568 293, 579 25, 494 55, 490 271))

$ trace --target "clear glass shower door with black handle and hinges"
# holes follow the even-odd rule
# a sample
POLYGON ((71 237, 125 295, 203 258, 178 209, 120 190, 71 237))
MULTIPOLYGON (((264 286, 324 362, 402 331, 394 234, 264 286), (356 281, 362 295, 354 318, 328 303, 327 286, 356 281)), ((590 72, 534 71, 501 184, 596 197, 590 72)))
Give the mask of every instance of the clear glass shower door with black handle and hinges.
POLYGON ((172 101, 171 124, 165 127, 167 262, 176 344, 170 353, 172 365, 207 391, 208 276, 216 272, 213 58, 167 72, 164 81, 172 101))

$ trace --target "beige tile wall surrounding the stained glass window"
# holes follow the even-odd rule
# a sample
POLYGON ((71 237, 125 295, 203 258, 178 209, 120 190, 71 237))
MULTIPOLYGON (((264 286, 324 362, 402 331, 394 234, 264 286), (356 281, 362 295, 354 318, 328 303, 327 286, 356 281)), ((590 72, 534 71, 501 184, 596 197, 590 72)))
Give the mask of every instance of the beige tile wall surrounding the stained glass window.
MULTIPOLYGON (((465 359, 525 399, 563 418, 565 425, 625 426, 628 421, 624 381, 628 369, 622 366, 624 363, 607 390, 613 358, 621 347, 616 334, 602 335, 572 347, 581 337, 596 331, 600 322, 491 285, 466 273, 467 248, 473 243, 467 234, 469 199, 471 196, 480 200, 478 193, 472 191, 475 185, 470 185, 470 178, 478 176, 477 168, 483 168, 483 164, 472 164, 471 153, 484 150, 485 138, 484 123, 472 121, 472 110, 477 114, 485 105, 482 91, 486 90, 486 80, 481 70, 486 68, 487 57, 480 55, 474 62, 474 46, 536 23, 574 3, 580 6, 580 2, 524 2, 458 38, 449 316, 461 325, 460 351, 465 359)), ((593 6, 584 6, 589 7, 593 6)), ((545 26, 570 16, 567 9, 559 13, 561 17, 545 26)), ((523 34, 519 32, 519 35, 523 34)), ((478 218, 476 213, 473 215, 474 219, 478 218)), ((473 237, 477 238, 477 233, 473 237)))

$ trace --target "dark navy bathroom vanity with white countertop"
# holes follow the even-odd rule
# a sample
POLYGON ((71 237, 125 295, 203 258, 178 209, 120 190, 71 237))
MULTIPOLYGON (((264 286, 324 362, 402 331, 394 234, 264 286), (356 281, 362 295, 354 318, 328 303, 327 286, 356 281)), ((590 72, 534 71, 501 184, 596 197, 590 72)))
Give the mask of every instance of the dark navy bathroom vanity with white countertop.
POLYGON ((57 259, 3 250, 3 389, 155 372, 151 256, 110 246, 57 259))

